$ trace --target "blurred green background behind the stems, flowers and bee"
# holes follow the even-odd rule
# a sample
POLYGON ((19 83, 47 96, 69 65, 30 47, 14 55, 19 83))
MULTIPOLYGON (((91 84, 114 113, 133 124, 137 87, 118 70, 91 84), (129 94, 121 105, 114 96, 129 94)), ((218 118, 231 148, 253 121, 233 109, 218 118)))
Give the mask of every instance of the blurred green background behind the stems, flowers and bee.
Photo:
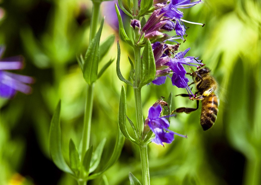
MULTIPOLYGON (((76 184, 52 163, 48 132, 53 111, 61 98, 64 156, 69 139, 79 145, 85 104, 85 81, 76 56, 89 43, 92 3, 89 0, 2 0, 0 43, 4 57, 23 55, 25 68, 18 73, 33 76, 33 93, 1 99, 0 184, 76 184), (47 169, 47 170, 46 170, 47 169)), ((118 31, 112 26, 115 2, 102 3, 105 18, 101 41, 115 34, 115 44, 101 63, 116 58, 118 31), (109 14, 108 14, 109 12, 109 14), (110 24, 109 24, 110 23, 110 24)), ((260 0, 206 0, 183 9, 184 19, 206 23, 188 25, 188 56, 200 56, 220 84, 219 113, 215 125, 203 131, 200 110, 172 118, 170 129, 188 138, 175 137, 165 147, 149 145, 151 184, 261 184, 261 2, 260 0)), ((124 17, 128 29, 129 18, 124 17)), ((117 25, 116 25, 117 27, 117 25)), ((121 71, 127 78, 133 58, 120 41, 121 71)), ((102 66, 102 65, 101 65, 102 66)), ((116 61, 95 84, 91 143, 107 138, 109 155, 117 132, 121 85, 116 61)), ((125 86, 126 87, 126 86, 125 86)), ((192 89, 193 90, 193 89, 192 89)), ((135 120, 134 96, 127 92, 127 115, 135 120)), ((195 102, 175 97, 185 93, 171 85, 143 87, 144 118, 159 97, 173 93, 172 109, 195 107, 195 102)), ((109 184, 129 184, 128 173, 141 179, 139 151, 126 141, 121 157, 105 173, 109 184)), ((104 178, 105 178, 104 176, 104 178)), ((88 184, 99 184, 100 178, 88 184)))

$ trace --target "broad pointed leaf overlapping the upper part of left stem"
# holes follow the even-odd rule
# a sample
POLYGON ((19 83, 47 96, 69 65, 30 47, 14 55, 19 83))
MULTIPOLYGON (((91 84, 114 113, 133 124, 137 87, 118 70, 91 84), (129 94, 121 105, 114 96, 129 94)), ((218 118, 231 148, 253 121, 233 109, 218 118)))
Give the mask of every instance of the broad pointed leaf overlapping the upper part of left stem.
POLYGON ((104 19, 101 21, 101 26, 92 39, 91 44, 89 45, 88 50, 86 51, 84 64, 83 64, 83 78, 87 84, 92 84, 98 78, 98 63, 99 63, 99 42, 101 37, 101 30, 104 23, 104 19))

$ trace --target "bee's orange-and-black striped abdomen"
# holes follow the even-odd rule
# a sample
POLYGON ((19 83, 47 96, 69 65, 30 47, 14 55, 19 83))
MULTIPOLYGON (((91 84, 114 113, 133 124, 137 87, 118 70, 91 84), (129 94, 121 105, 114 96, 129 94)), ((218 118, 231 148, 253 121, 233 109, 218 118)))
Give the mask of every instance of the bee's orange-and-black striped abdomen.
POLYGON ((208 130, 214 125, 218 114, 218 98, 214 93, 202 100, 200 124, 203 130, 208 130))

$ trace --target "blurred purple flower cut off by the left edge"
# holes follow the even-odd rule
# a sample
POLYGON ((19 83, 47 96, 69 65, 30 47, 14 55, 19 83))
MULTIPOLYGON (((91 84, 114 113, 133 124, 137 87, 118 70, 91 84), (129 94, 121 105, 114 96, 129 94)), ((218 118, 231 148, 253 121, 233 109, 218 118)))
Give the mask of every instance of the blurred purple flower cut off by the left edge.
MULTIPOLYGON (((0 47, 0 58, 5 48, 0 47)), ((4 70, 18 70, 23 68, 21 57, 10 57, 0 59, 0 96, 4 98, 12 98, 17 91, 29 94, 32 88, 27 84, 32 84, 34 78, 11 73, 4 70)))

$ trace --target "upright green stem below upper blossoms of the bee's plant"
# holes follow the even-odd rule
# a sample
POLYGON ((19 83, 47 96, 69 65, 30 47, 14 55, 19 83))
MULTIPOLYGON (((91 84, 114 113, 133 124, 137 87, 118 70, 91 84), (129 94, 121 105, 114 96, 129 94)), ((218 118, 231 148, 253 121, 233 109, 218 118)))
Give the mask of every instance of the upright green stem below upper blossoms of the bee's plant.
POLYGON ((134 80, 134 98, 135 98, 135 109, 136 109, 136 121, 138 135, 140 136, 140 161, 141 161, 141 171, 142 171, 142 181, 143 185, 150 184, 150 170, 149 170, 149 160, 148 160, 148 148, 146 144, 142 143, 142 132, 144 129, 143 123, 143 112, 142 112, 142 101, 141 101, 141 87, 140 84, 140 48, 134 47, 134 57, 135 57, 135 80, 134 80))

